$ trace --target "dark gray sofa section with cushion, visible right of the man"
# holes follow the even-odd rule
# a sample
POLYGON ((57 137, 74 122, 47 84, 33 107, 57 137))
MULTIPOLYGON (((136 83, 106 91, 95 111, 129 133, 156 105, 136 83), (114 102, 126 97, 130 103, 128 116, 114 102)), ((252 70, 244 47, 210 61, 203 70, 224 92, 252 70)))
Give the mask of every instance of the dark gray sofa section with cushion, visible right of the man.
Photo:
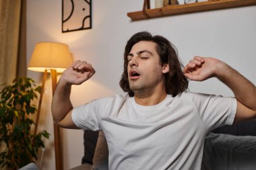
POLYGON ((201 170, 256 169, 256 120, 223 126, 205 138, 201 170))

